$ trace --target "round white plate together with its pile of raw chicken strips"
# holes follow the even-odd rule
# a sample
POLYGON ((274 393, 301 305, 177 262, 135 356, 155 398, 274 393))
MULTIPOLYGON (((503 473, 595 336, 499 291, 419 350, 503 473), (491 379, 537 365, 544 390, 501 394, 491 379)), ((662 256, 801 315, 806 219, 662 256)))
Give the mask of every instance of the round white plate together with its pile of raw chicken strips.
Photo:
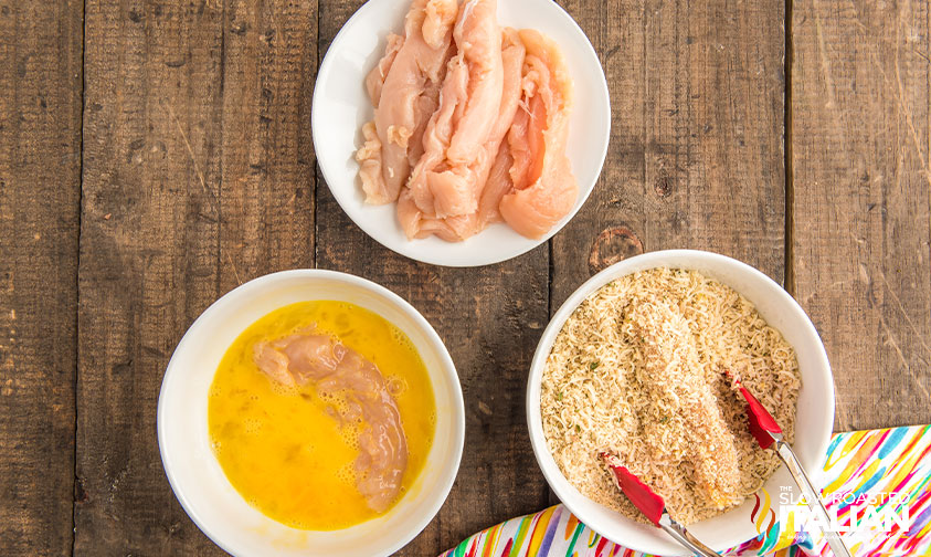
POLYGON ((556 234, 591 193, 610 126, 597 54, 552 0, 371 0, 330 45, 311 109, 349 218, 448 266, 556 234))

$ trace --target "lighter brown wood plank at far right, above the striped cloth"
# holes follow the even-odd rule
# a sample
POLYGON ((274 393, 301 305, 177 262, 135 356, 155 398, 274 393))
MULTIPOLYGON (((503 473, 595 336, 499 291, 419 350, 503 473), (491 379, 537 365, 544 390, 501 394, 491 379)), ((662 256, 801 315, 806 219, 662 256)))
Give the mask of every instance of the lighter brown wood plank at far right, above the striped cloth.
POLYGON ((791 274, 837 430, 931 421, 929 18, 927 2, 794 2, 791 274))

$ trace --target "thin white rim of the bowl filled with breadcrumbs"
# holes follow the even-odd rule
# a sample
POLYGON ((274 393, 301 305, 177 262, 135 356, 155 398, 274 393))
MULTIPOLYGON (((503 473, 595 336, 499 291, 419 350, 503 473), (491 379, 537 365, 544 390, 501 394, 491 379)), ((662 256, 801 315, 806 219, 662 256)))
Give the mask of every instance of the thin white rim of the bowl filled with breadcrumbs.
MULTIPOLYGON (((559 470, 559 466, 556 463, 552 454, 550 453, 549 448, 546 443, 546 435, 543 434, 543 424, 542 424, 542 417, 540 412, 540 393, 541 393, 541 380, 542 380, 542 371, 546 365, 546 360, 549 357, 550 350, 552 349, 552 345, 556 341, 556 337, 559 332, 562 329, 562 326, 565 324, 565 320, 572 315, 572 312, 593 292, 599 290, 600 287, 604 286, 609 282, 616 280, 620 276, 624 276, 637 271, 643 271, 646 269, 654 269, 657 266, 670 266, 675 267, 675 263, 670 263, 669 260, 676 260, 684 256, 697 256, 701 258, 706 261, 712 261, 716 264, 720 264, 723 266, 733 266, 739 267, 744 272, 748 272, 751 275, 754 275, 758 280, 763 283, 769 284, 773 293, 779 296, 780 304, 784 305, 789 311, 793 314, 796 314, 796 318, 804 324, 804 327, 807 329, 805 330, 806 335, 812 335, 814 338, 817 338, 817 346, 819 350, 816 353, 816 358, 818 359, 817 365, 818 369, 826 370, 827 372, 827 382, 831 388, 826 391, 826 399, 825 406, 823 408, 822 417, 824 414, 829 414, 828 418, 823 419, 823 423, 827 427, 823 428, 821 431, 812 431, 808 435, 815 438, 815 443, 822 448, 819 462, 817 462, 817 471, 821 471, 823 465, 824 459, 826 458, 826 452, 828 444, 831 442, 831 435, 833 432, 833 424, 834 424, 834 408, 835 408, 835 393, 834 393, 834 381, 833 381, 833 374, 831 371, 831 364, 827 359, 827 353, 824 349, 824 344, 821 341, 821 336, 817 333, 814 324, 812 323, 808 315, 798 305, 798 302, 795 301, 779 283, 770 278, 765 273, 761 272, 760 270, 743 263, 742 261, 738 261, 733 258, 729 258, 727 255, 722 255, 720 253, 707 252, 701 250, 662 250, 655 252, 648 252, 641 255, 636 255, 634 258, 630 258, 623 261, 620 261, 601 272, 593 275, 591 278, 585 281, 575 292, 572 293, 569 298, 563 302, 560 306, 559 311, 553 314, 552 318, 550 319, 549 325, 543 330, 542 336, 540 337, 540 341, 537 345, 537 351, 533 354, 533 359, 530 364, 530 374, 527 380, 527 427, 530 434, 530 443, 533 448, 533 454, 537 458, 537 463, 540 466, 540 470, 543 472, 543 476, 547 479, 547 483, 553 490, 556 495, 560 498, 560 501, 569 508, 572 514, 574 514, 579 519, 584 523, 586 526, 592 528, 593 530, 597 532, 602 536, 623 545, 624 547, 628 547, 635 551, 642 551, 647 554, 654 555, 674 555, 668 553, 656 553, 656 547, 638 547, 636 544, 630 544, 627 540, 617 539, 615 533, 613 533, 614 528, 611 524, 603 523, 600 519, 591 521, 591 517, 583 516, 584 513, 580 514, 578 508, 573 508, 573 505, 568 501, 571 497, 565 496, 569 491, 568 488, 575 490, 562 475, 562 472, 559 470), (568 488, 567 488, 568 487, 568 488), (588 519, 586 519, 588 518, 588 519)), ((738 291, 739 292, 739 291, 738 291)), ((807 467, 807 470, 812 470, 811 462, 803 462, 803 464, 807 467)), ((810 472, 811 475, 811 472, 810 472)), ((584 496, 583 496, 584 497, 584 496)), ((733 539, 729 540, 727 544, 719 544, 720 547, 713 547, 718 551, 722 551, 724 549, 734 547, 739 544, 747 542, 743 536, 737 535, 732 536, 733 539)), ((675 544, 675 542, 669 538, 669 542, 675 544)), ((677 555, 691 555, 687 549, 681 548, 681 553, 677 555)))

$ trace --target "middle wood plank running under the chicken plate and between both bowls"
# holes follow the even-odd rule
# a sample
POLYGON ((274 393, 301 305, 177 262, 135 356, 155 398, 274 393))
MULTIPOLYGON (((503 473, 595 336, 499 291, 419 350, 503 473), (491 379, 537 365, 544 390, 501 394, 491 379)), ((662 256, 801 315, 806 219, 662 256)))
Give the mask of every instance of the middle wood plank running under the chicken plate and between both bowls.
MULTIPOLYGON (((361 3, 320 4, 321 56, 361 3)), ((547 485, 527 435, 523 391, 547 322, 547 246, 482 269, 425 265, 367 237, 319 175, 317 203, 318 266, 364 276, 411 302, 440 333, 463 386, 466 449, 458 477, 437 517, 398 555, 436 555, 484 527, 542 508, 547 485)))

